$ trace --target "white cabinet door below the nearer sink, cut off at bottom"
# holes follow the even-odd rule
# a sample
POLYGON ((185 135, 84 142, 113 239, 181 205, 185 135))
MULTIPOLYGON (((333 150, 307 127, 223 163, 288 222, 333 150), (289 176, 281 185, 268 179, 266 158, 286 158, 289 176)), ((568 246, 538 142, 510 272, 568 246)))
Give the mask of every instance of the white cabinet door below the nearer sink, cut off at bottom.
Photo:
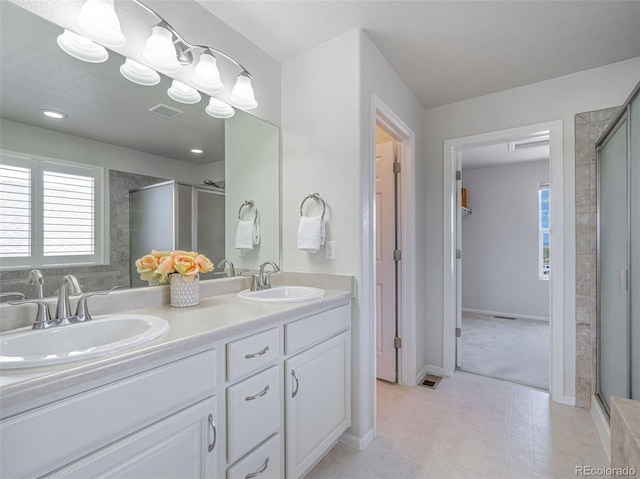
POLYGON ((213 479, 223 440, 216 410, 216 398, 205 399, 45 477, 213 479))

